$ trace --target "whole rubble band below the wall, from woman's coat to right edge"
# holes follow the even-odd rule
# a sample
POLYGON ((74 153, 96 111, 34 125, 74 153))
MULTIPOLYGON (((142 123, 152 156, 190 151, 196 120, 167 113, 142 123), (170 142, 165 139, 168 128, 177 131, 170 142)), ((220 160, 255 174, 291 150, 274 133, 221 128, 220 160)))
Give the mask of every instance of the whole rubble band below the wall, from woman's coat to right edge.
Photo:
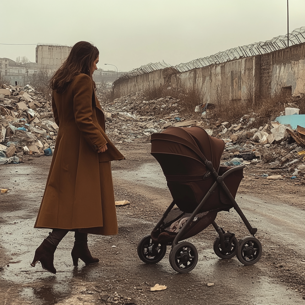
MULTIPOLYGON (((152 133, 170 126, 200 126, 209 135, 226 143, 225 165, 264 164, 292 179, 305 175, 305 128, 300 126, 293 131, 290 126, 270 120, 258 129, 251 128, 259 118, 257 113, 237 118, 235 124, 215 122, 206 111, 202 115, 194 113, 190 120, 182 117, 179 100, 167 96, 146 101, 142 92, 131 93, 111 103, 101 103, 101 106, 105 112, 107 133, 117 143, 132 142, 136 138, 149 140, 152 133)), ((281 114, 284 115, 285 111, 281 114)))

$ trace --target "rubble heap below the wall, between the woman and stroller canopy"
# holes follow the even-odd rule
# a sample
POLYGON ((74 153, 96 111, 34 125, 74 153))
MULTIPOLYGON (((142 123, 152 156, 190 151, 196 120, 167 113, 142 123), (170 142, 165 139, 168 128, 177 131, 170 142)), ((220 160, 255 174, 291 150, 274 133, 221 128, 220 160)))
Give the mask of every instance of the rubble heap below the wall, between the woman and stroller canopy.
POLYGON ((142 92, 131 93, 101 103, 105 113, 109 138, 117 143, 132 142, 136 138, 148 138, 170 126, 191 126, 196 121, 180 117, 183 108, 179 100, 171 96, 147 100, 142 92))

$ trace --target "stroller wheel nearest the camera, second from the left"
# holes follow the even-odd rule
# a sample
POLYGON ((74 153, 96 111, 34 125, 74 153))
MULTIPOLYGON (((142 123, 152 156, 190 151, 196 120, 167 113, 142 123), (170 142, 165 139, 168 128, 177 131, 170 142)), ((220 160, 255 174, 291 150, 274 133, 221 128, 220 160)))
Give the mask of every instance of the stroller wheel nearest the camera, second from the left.
POLYGON ((198 251, 190 242, 180 242, 171 249, 169 261, 175 271, 187 273, 197 265, 198 251))

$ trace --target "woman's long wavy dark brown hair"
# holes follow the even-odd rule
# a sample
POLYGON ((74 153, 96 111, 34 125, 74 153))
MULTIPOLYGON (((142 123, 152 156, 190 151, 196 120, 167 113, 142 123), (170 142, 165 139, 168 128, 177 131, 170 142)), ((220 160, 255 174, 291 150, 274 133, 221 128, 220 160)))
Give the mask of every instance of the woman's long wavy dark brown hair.
POLYGON ((95 82, 92 79, 91 67, 98 56, 98 48, 90 42, 77 42, 71 49, 67 59, 51 78, 50 87, 52 90, 57 93, 63 93, 74 77, 81 73, 90 76, 96 90, 95 82))

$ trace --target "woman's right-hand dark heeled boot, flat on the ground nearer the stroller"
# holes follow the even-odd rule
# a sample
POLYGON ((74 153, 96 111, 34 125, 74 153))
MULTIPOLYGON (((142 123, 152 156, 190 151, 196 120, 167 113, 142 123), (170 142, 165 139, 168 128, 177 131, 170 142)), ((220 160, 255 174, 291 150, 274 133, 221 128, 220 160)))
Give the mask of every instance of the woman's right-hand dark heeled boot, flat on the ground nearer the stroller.
POLYGON ((80 258, 86 265, 93 265, 99 262, 97 257, 92 257, 88 248, 88 239, 86 233, 80 233, 78 230, 75 231, 74 247, 71 251, 73 265, 78 266, 78 259, 80 258))

